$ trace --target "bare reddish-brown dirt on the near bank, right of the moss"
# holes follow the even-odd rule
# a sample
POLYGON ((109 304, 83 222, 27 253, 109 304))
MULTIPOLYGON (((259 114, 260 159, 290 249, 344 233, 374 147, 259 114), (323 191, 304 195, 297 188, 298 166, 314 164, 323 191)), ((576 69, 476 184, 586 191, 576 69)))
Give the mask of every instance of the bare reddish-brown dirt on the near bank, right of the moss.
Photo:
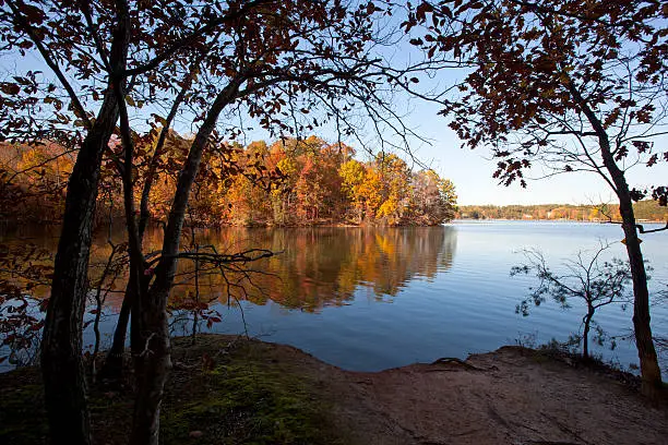
POLYGON ((522 348, 323 378, 339 386, 338 416, 366 444, 668 444, 665 406, 522 348))

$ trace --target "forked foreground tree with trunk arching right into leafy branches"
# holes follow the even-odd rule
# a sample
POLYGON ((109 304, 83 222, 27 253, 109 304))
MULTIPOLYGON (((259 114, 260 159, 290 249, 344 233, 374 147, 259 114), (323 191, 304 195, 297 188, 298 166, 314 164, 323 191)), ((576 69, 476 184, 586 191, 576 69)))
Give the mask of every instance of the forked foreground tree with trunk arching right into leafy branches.
MULTIPOLYGON (((200 14, 199 10, 193 13, 200 14)), ((159 257, 147 262, 143 255, 133 222, 133 200, 126 197, 130 279, 136 289, 131 342, 139 392, 132 443, 157 442, 159 406, 170 364, 167 298, 178 258, 192 256, 180 253, 179 244, 203 154, 212 146, 222 149, 227 146, 219 137, 222 133, 215 131, 219 117, 242 109, 260 125, 276 133, 300 133, 334 118, 341 123, 339 119, 345 119, 342 111, 356 106, 377 121, 395 119, 391 113, 383 118, 386 106, 377 85, 391 82, 391 86, 403 88, 410 82, 406 73, 414 68, 397 72, 382 64, 382 59, 372 58, 370 45, 382 45, 373 23, 377 13, 384 12, 371 3, 272 2, 223 23, 213 43, 207 45, 213 48, 207 61, 211 60, 215 75, 202 79, 205 93, 198 104, 202 106, 202 121, 179 172, 159 257), (339 103, 346 105, 339 106, 339 103), (320 121, 311 117, 318 109, 323 111, 320 121)), ((129 166, 132 132, 126 103, 119 103, 119 108, 126 166, 129 166)), ((230 137, 240 131, 229 124, 222 130, 230 137)), ((259 163, 258 159, 253 167, 262 169, 259 163)), ((230 166, 232 170, 236 168, 230 166)), ((126 196, 130 195, 132 184, 127 176, 123 188, 126 196)), ((239 258, 223 256, 222 261, 247 262, 253 257, 251 252, 239 258)))

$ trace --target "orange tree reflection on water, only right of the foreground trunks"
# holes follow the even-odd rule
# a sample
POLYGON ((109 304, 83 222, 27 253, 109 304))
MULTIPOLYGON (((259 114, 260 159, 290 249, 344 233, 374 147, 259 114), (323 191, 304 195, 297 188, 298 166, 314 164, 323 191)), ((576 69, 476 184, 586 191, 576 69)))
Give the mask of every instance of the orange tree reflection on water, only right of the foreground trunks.
MULTIPOLYGON (((251 265, 257 270, 252 282, 232 277, 248 291, 236 297, 255 304, 273 300, 308 312, 346 304, 358 287, 369 288, 378 300, 393 298, 411 279, 432 279, 450 268, 456 248, 452 227, 225 229, 201 237, 200 242, 230 252, 251 246, 282 252, 251 265)), ((191 272, 192 265, 181 262, 179 273, 191 272)), ((235 303, 228 301, 219 274, 208 274, 200 282, 202 293, 235 303)), ((191 288, 191 280, 183 282, 172 298, 188 298, 191 288)))

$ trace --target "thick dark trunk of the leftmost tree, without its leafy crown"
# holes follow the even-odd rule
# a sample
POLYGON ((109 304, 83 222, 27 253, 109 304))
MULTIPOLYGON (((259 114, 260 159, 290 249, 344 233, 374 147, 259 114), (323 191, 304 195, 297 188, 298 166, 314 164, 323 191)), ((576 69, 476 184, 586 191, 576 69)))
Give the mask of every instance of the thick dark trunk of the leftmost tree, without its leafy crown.
POLYGON ((62 231, 41 340, 41 373, 53 444, 91 443, 81 357, 82 326, 102 155, 117 119, 116 99, 112 94, 107 94, 95 124, 81 146, 68 182, 62 231))

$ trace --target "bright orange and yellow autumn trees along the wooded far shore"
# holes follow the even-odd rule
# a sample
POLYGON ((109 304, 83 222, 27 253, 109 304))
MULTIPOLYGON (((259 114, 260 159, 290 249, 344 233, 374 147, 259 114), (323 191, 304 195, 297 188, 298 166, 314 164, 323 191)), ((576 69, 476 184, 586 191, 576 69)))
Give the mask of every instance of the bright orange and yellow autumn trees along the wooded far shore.
MULTIPOLYGON (((156 134, 135 136, 140 159, 134 178, 139 195, 154 169, 157 181, 151 190, 152 218, 159 222, 167 218, 189 140, 171 133, 156 159, 156 134)), ((110 215, 122 217, 121 181, 114 168, 120 141, 112 139, 109 146, 98 193, 98 224, 110 215)), ((0 220, 59 222, 75 154, 51 143, 8 145, 0 153, 0 220)), ((450 180, 433 170, 411 170, 393 154, 378 153, 368 161, 358 160, 355 154, 345 144, 317 136, 270 144, 257 141, 246 147, 223 145, 203 159, 187 224, 433 226, 455 216, 456 195, 450 180)))

